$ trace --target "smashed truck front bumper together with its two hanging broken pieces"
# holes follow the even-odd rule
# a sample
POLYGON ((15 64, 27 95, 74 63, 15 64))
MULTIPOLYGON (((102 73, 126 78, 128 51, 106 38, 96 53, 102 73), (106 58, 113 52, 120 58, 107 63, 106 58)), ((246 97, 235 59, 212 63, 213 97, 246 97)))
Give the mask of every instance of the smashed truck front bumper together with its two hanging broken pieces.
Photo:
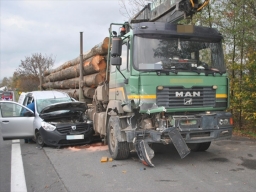
POLYGON ((143 164, 153 167, 154 151, 149 143, 173 143, 181 158, 190 153, 186 143, 204 143, 229 139, 233 125, 227 122, 230 113, 173 116, 173 127, 155 129, 124 129, 127 142, 133 142, 143 164))

